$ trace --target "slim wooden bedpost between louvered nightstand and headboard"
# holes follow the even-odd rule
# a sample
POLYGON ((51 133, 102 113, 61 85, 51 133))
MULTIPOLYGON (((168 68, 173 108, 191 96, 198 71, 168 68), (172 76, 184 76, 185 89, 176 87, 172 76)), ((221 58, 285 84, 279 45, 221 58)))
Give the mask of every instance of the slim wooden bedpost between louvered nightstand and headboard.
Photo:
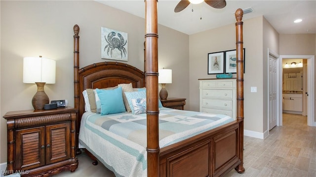
MULTIPOLYGON (((79 26, 74 26, 74 98, 75 98, 75 109, 79 110, 79 26)), ((78 120, 79 113, 77 114, 78 120)), ((80 122, 76 121, 76 153, 80 154, 79 149, 79 128, 80 122)))

